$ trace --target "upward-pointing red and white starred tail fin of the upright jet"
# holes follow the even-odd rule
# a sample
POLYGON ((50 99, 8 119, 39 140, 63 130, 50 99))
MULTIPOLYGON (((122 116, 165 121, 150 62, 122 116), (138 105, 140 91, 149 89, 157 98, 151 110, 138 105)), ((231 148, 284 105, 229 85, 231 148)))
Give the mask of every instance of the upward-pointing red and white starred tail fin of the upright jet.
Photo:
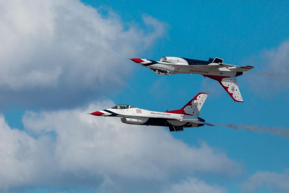
POLYGON ((207 99, 209 93, 198 93, 192 98, 182 109, 166 111, 171 113, 183 114, 183 115, 200 115, 200 110, 207 99))

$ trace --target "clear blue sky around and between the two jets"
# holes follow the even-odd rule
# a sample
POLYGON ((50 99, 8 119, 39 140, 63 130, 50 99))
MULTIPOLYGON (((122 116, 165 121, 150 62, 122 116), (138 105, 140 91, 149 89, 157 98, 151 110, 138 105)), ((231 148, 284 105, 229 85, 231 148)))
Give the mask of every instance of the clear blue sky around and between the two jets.
MULTIPOLYGON (((263 71, 261 63, 243 62, 252 55, 259 55, 263 50, 278 47, 289 36, 287 1, 84 2, 95 7, 104 5, 112 8, 126 22, 141 24, 141 16, 149 14, 167 24, 168 30, 164 38, 135 58, 159 60, 162 56, 180 56, 206 60, 218 56, 226 63, 253 65, 255 68, 252 71, 263 71)), ((131 63, 128 67, 133 68, 134 65, 135 63, 131 63)), ((129 80, 127 88, 116 95, 113 93, 109 98, 117 101, 116 103, 131 103, 140 108, 165 111, 167 108, 177 109, 194 94, 209 90, 202 87, 204 78, 201 76, 161 77, 146 68, 139 67, 135 70, 136 74, 129 80), (150 92, 151 86, 156 82, 160 82, 158 88, 164 87, 167 90, 164 94, 150 92)), ((285 121, 288 113, 288 90, 283 96, 276 93, 274 100, 264 98, 246 88, 250 81, 245 82, 245 79, 250 79, 250 76, 253 75, 238 77, 245 103, 233 102, 223 91, 217 93, 218 96, 211 94, 202 109, 201 117, 217 123, 288 128, 285 121), (272 110, 274 113, 270 113, 272 110)), ((213 80, 206 81, 212 82, 211 86, 222 89, 213 80)), ((186 132, 173 135, 188 144, 204 140, 212 146, 224 149, 230 157, 244 161, 247 175, 256 170, 282 172, 289 167, 288 138, 218 126, 187 129, 186 132)))

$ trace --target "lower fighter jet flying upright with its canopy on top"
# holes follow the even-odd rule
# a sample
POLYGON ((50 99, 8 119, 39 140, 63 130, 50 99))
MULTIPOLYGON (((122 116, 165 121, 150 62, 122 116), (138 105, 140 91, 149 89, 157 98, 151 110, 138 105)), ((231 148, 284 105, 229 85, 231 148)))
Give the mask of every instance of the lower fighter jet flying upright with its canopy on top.
POLYGON ((163 126, 169 127, 169 131, 184 131, 185 127, 214 126, 198 117, 208 95, 209 93, 198 93, 182 109, 166 110, 166 112, 149 111, 126 104, 119 104, 110 109, 89 114, 103 117, 121 117, 121 122, 132 125, 163 126))

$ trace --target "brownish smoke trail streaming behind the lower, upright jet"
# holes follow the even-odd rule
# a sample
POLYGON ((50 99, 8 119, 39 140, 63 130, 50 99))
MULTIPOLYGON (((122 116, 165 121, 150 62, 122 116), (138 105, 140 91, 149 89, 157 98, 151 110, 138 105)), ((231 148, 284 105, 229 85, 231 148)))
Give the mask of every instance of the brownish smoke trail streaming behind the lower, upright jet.
POLYGON ((250 131, 270 132, 271 134, 278 135, 280 137, 289 137, 289 129, 284 129, 283 127, 272 128, 272 127, 258 127, 257 125, 233 125, 233 124, 216 124, 222 127, 229 127, 233 129, 245 129, 250 131))

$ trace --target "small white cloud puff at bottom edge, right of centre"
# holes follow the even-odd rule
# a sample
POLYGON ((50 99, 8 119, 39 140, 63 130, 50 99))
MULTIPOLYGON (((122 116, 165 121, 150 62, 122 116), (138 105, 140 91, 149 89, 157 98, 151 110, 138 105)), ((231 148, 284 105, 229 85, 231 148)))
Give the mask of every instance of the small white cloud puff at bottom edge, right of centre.
POLYGON ((219 186, 211 186, 206 184, 205 182, 196 179, 196 178, 188 178, 186 180, 182 180, 179 184, 174 184, 170 188, 168 188, 166 193, 225 193, 227 192, 225 188, 219 186))

